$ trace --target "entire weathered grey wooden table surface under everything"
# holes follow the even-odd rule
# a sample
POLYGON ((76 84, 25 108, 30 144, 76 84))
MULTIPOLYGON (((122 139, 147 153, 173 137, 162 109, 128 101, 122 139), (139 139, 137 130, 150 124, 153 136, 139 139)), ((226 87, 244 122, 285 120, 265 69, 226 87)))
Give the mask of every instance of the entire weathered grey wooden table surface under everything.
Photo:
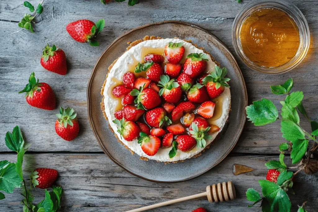
MULTIPOLYGON (((38 0, 30 0, 33 5, 38 0)), ((87 118, 86 85, 93 66, 104 49, 119 35, 143 24, 164 20, 182 20, 197 24, 215 34, 234 53, 231 41, 232 22, 238 10, 249 3, 235 0, 141 0, 130 7, 127 2, 111 2, 106 6, 99 0, 46 0, 44 12, 36 18, 35 33, 19 31, 17 23, 28 11, 22 0, 1 0, 0 2, 0 160, 16 161, 16 154, 5 146, 6 131, 19 125, 25 140, 31 144, 24 157, 24 174, 33 168, 48 167, 59 171, 56 184, 64 189, 61 211, 126 211, 167 201, 204 191, 208 184, 233 181, 237 189, 237 199, 231 202, 210 204, 205 199, 197 199, 174 204, 153 211, 192 211, 205 207, 208 211, 260 211, 247 208, 245 191, 253 187, 260 191, 259 179, 264 179, 267 168, 264 163, 277 160, 278 145, 285 140, 281 137, 280 123, 255 127, 246 122, 241 138, 232 153, 202 176, 180 183, 156 183, 142 180, 118 167, 101 151, 92 133, 87 118), (105 18, 105 29, 98 40, 100 47, 75 42, 65 30, 66 24, 78 19, 96 22, 105 18), (19 31, 19 32, 16 32, 19 31), (14 33, 16 32, 16 33, 14 33), (65 76, 45 71, 40 65, 40 55, 45 44, 56 44, 66 52, 68 73, 65 76), (40 81, 49 83, 56 95, 57 105, 71 106, 78 113, 79 136, 67 142, 54 131, 53 111, 40 110, 29 106, 23 94, 17 94, 30 73, 34 71, 40 81), (234 176, 234 163, 244 164, 255 170, 234 176)), ((242 62, 249 103, 260 98, 272 99, 279 105, 278 96, 270 92, 270 85, 276 85, 292 77, 294 90, 304 92, 304 106, 313 120, 318 120, 317 93, 318 60, 316 35, 318 35, 318 1, 292 1, 304 14, 311 32, 311 45, 305 60, 294 70, 281 75, 264 75, 253 72, 242 62)), ((242 111, 242 113, 244 113, 242 111)), ((302 125, 309 129, 306 120, 302 125)), ((290 162, 290 161, 289 161, 290 162)), ((292 211, 297 204, 308 201, 308 211, 318 210, 317 175, 298 174, 291 195, 292 211)), ((35 189, 36 201, 43 197, 43 190, 35 189)), ((0 211, 22 211, 18 191, 7 194, 0 202, 0 211)))

